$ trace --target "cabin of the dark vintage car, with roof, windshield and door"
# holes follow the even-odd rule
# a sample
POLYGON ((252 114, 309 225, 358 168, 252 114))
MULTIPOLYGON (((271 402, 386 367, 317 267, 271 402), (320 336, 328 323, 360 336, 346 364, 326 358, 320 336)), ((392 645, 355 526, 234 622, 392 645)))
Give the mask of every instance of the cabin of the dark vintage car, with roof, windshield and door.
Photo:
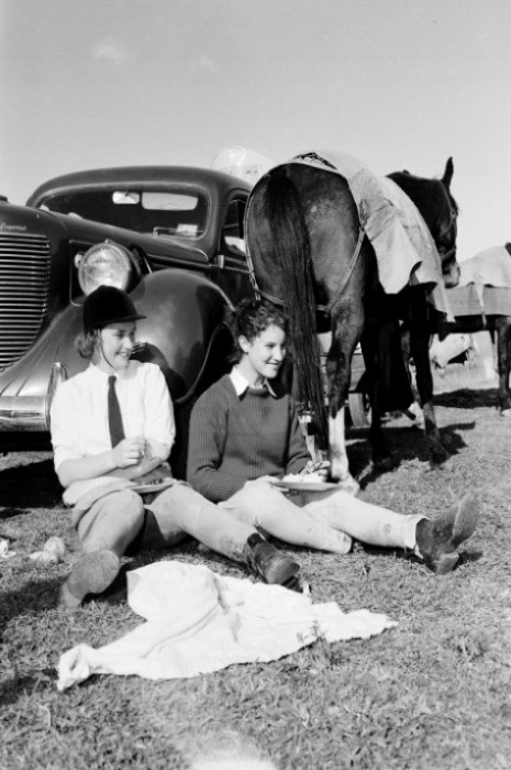
POLYGON ((199 249, 210 277, 240 297, 249 290, 243 241, 249 190, 243 179, 211 169, 130 166, 55 177, 26 205, 199 249))

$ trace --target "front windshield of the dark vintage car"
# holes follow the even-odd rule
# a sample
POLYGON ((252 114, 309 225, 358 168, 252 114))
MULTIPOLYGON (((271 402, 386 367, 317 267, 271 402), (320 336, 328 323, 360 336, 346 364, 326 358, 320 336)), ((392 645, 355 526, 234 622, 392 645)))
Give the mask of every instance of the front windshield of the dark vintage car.
POLYGON ((208 199, 201 190, 79 190, 51 195, 42 206, 162 237, 200 238, 208 224, 208 199))

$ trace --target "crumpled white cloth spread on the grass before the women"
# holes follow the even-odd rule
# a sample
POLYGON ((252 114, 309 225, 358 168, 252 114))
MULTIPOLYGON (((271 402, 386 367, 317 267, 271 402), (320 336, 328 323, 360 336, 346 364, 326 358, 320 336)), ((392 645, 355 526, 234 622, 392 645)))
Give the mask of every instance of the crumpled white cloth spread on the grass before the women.
POLYGON ((279 585, 219 575, 207 566, 160 561, 127 573, 127 601, 147 623, 93 649, 60 657, 58 690, 91 674, 185 679, 233 663, 267 662, 318 638, 366 639, 397 625, 386 615, 313 605, 279 585))

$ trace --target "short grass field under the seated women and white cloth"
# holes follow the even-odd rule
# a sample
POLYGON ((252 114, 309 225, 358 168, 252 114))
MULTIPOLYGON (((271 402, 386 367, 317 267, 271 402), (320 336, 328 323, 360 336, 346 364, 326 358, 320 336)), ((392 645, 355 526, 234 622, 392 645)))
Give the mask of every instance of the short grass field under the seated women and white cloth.
MULTIPOLYGON (((364 431, 351 435, 349 455, 363 497, 404 514, 434 516, 478 491, 480 525, 459 569, 435 578, 402 553, 359 544, 345 557, 288 548, 315 602, 385 612, 398 627, 186 681, 92 676, 56 690, 63 651, 101 646, 141 620, 122 580, 75 615, 55 608, 77 541, 51 455, 4 458, 0 537, 15 537, 16 556, 0 559, 0 768, 198 768, 200 755, 232 751, 280 770, 508 770, 511 421, 499 417, 495 389, 444 391, 437 418, 452 458, 441 470, 429 468, 421 433, 404 418, 386 424, 392 472, 374 473, 364 431), (52 535, 65 538, 65 562, 38 566, 29 554, 52 535)), ((244 575, 191 542, 125 569, 157 558, 244 575)), ((249 766, 224 759, 215 767, 249 766)))

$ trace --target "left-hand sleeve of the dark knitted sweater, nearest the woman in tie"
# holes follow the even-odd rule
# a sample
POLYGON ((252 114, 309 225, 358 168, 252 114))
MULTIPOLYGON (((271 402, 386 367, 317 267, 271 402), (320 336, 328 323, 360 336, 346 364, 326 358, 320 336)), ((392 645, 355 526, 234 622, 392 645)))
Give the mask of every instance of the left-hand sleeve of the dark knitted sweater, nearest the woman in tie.
POLYGON ((246 481, 221 470, 229 426, 229 405, 222 395, 210 388, 199 398, 188 439, 187 480, 213 503, 229 499, 246 481))

